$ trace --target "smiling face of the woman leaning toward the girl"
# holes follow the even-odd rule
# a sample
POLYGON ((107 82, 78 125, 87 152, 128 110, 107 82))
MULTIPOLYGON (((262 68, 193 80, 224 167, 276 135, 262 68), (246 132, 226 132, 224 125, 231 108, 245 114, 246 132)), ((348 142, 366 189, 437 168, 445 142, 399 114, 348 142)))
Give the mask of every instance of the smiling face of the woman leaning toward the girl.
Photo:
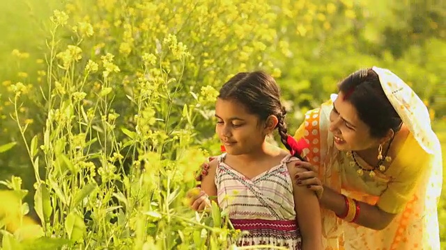
MULTIPOLYGON (((374 108, 374 107, 370 107, 374 108)), ((372 138, 370 127, 360 119, 355 106, 339 92, 330 113, 330 131, 340 151, 361 151, 378 147, 380 139, 372 138)))

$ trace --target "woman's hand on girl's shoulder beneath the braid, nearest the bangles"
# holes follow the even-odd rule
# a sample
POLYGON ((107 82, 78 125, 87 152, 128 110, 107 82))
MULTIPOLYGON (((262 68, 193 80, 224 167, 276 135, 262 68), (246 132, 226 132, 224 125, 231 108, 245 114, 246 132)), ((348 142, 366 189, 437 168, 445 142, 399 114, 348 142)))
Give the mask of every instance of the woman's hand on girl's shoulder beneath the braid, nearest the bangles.
POLYGON ((316 192, 318 199, 321 199, 323 194, 323 185, 318 178, 318 169, 311 163, 298 161, 295 163, 298 167, 298 173, 294 175, 295 182, 298 186, 307 186, 310 190, 316 192))

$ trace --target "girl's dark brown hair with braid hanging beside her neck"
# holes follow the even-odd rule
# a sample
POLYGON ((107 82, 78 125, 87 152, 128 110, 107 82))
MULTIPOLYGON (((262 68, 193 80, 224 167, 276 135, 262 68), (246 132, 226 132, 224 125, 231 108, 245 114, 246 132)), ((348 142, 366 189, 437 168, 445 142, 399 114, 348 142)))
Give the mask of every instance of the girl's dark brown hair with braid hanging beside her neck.
MULTIPOLYGON (((262 71, 240 72, 224 83, 218 98, 241 103, 249 113, 257 115, 261 122, 266 122, 270 115, 275 115, 279 120, 276 128, 280 141, 291 151, 287 142, 289 135, 285 123, 286 109, 282 106, 280 90, 272 76, 262 71)), ((303 160, 299 152, 294 156, 303 160)))

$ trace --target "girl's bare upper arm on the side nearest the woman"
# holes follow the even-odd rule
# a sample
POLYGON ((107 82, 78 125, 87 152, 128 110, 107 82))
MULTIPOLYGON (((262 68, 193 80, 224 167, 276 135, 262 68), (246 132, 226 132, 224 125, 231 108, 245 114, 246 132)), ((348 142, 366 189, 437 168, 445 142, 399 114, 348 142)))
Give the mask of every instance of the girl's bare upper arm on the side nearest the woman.
MULTIPOLYGON (((297 174, 295 162, 288 164, 291 177, 297 174)), ((321 209, 316 194, 306 187, 298 186, 293 181, 293 196, 298 226, 302 235, 302 250, 322 249, 321 209)))

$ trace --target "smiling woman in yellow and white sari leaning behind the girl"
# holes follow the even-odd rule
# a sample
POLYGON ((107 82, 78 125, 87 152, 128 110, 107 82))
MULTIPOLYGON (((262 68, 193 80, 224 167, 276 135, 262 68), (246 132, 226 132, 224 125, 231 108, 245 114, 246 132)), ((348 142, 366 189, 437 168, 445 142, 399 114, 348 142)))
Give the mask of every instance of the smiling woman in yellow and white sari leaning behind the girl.
POLYGON ((325 249, 440 249, 440 142, 398 76, 351 74, 294 137, 307 142, 295 180, 318 194, 325 249))

